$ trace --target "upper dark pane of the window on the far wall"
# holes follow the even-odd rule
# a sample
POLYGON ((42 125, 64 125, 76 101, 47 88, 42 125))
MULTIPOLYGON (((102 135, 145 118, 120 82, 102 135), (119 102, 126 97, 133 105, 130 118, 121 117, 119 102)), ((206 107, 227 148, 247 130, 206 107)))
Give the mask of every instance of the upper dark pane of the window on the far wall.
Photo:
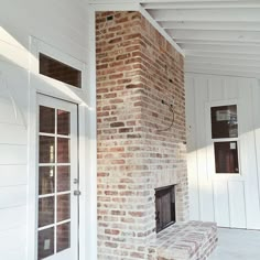
POLYGON ((237 106, 212 107, 212 138, 237 137, 237 106))

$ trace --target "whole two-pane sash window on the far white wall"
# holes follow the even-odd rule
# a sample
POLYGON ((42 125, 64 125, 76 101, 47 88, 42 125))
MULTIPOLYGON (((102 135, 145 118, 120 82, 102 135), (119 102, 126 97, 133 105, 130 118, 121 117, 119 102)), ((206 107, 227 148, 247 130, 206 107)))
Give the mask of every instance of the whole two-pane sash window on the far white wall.
POLYGON ((237 106, 210 108, 212 139, 214 141, 215 172, 239 173, 237 106))

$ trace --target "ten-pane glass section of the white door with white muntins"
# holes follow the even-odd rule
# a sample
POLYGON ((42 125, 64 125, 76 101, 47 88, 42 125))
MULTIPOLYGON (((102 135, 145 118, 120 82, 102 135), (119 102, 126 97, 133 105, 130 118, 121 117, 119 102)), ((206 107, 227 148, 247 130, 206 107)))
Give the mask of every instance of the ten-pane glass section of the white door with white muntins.
MULTIPOLYGON (((75 105, 76 106, 76 105, 75 105)), ((72 241, 72 113, 39 107, 37 259, 68 250, 72 241)), ((67 259, 54 258, 53 259, 67 259)))

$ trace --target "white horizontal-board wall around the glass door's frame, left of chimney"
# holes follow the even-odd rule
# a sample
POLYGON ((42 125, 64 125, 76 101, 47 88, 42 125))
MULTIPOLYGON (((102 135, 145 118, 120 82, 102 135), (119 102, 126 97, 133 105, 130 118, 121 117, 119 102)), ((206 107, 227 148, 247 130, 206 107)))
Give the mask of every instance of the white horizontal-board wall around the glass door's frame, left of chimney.
MULTIPOLYGON (((0 259, 28 260, 30 36, 86 61, 85 1, 2 1, 0 8, 0 259)), ((37 77, 37 76, 36 76, 37 77)), ((36 185, 36 184, 35 184, 36 185)), ((34 245, 31 245, 34 247, 34 245)))

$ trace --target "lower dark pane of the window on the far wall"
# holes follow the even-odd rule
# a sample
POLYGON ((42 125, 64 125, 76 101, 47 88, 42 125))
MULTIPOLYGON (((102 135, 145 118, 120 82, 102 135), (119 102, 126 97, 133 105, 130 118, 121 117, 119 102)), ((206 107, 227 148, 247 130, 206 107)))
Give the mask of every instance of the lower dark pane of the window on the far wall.
POLYGON ((239 173, 237 142, 215 142, 216 173, 239 173))

